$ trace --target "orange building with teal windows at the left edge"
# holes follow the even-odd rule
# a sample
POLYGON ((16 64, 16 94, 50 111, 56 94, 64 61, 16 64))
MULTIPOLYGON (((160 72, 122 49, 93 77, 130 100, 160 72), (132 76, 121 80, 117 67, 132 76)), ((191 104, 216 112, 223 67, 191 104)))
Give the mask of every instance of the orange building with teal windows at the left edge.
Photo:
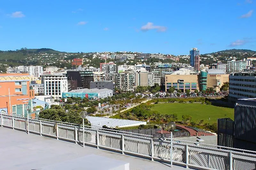
POLYGON ((0 74, 0 112, 26 115, 33 110, 35 94, 28 73, 0 74))

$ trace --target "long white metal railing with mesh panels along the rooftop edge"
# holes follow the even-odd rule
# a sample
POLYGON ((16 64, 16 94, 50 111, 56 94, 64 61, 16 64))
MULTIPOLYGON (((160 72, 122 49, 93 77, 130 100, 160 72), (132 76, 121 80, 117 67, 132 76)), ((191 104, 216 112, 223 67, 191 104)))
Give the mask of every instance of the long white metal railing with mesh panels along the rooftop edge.
POLYGON ((39 118, 1 114, 1 127, 94 146, 122 154, 200 169, 255 169, 256 152, 178 138, 154 138, 143 134, 77 125, 39 118))

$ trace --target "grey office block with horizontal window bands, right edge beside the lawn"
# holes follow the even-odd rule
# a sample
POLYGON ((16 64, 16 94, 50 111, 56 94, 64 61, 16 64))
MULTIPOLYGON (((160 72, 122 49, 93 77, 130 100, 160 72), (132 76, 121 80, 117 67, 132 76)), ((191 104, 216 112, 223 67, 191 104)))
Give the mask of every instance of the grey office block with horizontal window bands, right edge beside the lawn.
POLYGON ((229 75, 228 102, 256 98, 256 73, 231 73, 229 75))

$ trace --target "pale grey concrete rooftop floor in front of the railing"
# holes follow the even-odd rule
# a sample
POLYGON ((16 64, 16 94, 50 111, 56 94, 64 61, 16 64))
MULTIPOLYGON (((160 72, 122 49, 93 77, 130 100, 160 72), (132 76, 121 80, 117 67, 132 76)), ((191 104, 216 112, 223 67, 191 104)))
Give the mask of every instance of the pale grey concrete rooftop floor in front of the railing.
MULTIPOLYGON (((114 162, 116 161, 117 164, 120 162, 129 163, 130 170, 184 169, 184 167, 180 166, 173 165, 173 167, 170 167, 169 164, 122 155, 91 146, 85 146, 83 148, 79 144, 42 137, 31 133, 28 135, 26 132, 4 127, 0 127, 0 139, 0 170, 39 170, 56 164, 61 164, 61 169, 76 169, 68 165, 68 162, 74 159, 78 164, 83 165, 83 169, 91 169, 91 166, 98 167, 99 164, 104 162, 100 161, 102 157, 105 157, 106 160, 111 159, 114 162), (97 161, 92 159, 90 162, 90 156, 88 155, 93 155, 93 157, 95 155, 96 157, 99 156, 99 159, 96 159, 97 161), (81 157, 88 158, 89 161, 82 161, 81 157), (63 165, 67 166, 65 167, 63 165)), ((106 167, 106 169, 108 168, 106 167)))

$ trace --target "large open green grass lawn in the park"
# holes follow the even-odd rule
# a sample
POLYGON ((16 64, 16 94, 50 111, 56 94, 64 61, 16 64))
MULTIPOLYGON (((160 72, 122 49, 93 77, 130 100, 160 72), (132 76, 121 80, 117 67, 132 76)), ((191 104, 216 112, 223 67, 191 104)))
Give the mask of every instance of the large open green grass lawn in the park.
POLYGON ((227 107, 217 107, 212 105, 206 105, 201 103, 160 103, 154 104, 153 110, 156 110, 162 114, 174 114, 178 115, 179 121, 182 120, 182 115, 191 115, 192 121, 196 119, 198 122, 204 120, 204 123, 217 122, 218 118, 231 118, 234 120, 234 109, 227 107))

